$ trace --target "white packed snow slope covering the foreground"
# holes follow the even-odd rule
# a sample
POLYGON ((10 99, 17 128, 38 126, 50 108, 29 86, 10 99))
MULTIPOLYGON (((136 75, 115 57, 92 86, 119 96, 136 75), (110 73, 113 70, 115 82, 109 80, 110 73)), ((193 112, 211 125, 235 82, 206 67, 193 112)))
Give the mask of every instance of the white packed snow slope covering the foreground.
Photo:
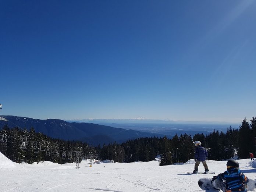
MULTIPOLYGON (((256 161, 238 160, 243 173, 256 179, 256 161), (254 163, 254 164, 253 164, 254 163)), ((89 160, 79 163, 56 164, 49 161, 17 164, 0 153, 0 191, 19 192, 203 192, 198 186, 200 178, 212 178, 225 171, 227 161, 207 160, 210 172, 191 174, 194 160, 169 166, 159 166, 158 160, 149 162, 113 163, 89 160)), ((199 172, 203 172, 202 163, 199 172)))

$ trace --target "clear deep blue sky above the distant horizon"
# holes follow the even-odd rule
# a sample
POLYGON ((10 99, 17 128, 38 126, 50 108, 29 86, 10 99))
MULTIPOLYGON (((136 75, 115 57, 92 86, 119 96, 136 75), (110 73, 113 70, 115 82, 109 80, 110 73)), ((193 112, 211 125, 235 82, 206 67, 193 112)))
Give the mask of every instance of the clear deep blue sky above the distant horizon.
POLYGON ((256 116, 256 1, 0 1, 2 115, 256 116))

